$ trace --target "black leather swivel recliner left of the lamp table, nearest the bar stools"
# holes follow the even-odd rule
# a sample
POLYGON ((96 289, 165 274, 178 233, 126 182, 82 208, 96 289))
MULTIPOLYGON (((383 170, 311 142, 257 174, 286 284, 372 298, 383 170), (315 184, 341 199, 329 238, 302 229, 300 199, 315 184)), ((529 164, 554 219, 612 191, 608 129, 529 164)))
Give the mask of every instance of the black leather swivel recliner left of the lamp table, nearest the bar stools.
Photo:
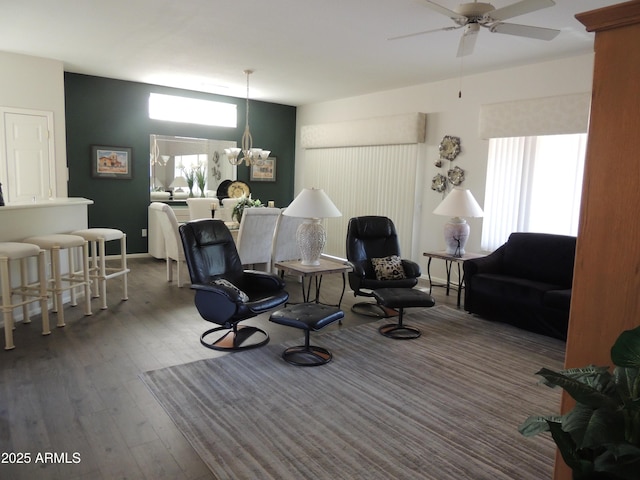
POLYGON ((214 350, 266 344, 265 331, 238 323, 285 303, 289 294, 284 281, 267 272, 243 270, 231 232, 221 220, 196 220, 179 230, 196 308, 206 321, 221 325, 204 332, 200 342, 214 350))

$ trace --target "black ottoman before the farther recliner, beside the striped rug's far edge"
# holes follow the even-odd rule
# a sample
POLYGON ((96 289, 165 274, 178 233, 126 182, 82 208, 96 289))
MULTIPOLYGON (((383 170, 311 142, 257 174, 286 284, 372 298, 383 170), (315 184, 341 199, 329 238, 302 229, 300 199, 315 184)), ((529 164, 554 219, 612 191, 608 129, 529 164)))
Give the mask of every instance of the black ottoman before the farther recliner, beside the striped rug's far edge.
POLYGON ((402 313, 407 307, 433 307, 436 301, 431 295, 413 288, 381 288, 373 291, 378 303, 387 308, 398 309, 398 323, 383 325, 378 331, 385 337, 410 340, 420 336, 420 330, 402 324, 402 313))

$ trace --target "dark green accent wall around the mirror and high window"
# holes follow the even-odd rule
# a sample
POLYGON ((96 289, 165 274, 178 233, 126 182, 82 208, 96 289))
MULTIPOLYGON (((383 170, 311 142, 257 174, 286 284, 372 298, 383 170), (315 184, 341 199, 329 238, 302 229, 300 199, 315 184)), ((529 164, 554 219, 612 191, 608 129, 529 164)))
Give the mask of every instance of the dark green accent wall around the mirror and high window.
MULTIPOLYGON (((149 206, 149 135, 235 140, 240 145, 245 124, 245 99, 65 73, 65 109, 69 196, 94 201, 90 227, 112 227, 127 234, 129 253, 146 253, 149 206), (150 93, 182 95, 235 103, 238 127, 207 127, 149 119, 150 93), (133 149, 133 178, 116 180, 91 176, 91 146, 133 149)), ((256 146, 277 158, 276 182, 249 182, 249 169, 238 167, 238 180, 247 182, 253 198, 287 206, 293 199, 296 108, 250 101, 249 122, 256 146)))

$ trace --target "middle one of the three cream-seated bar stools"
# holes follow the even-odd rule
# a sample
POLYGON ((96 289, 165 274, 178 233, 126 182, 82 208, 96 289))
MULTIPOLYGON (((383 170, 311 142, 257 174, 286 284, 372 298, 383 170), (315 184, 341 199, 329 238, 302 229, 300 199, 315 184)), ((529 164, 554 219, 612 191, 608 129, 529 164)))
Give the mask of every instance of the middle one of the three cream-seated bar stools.
POLYGON ((84 314, 91 315, 91 279, 89 278, 89 245, 87 241, 79 235, 53 234, 41 235, 25 238, 24 242, 38 245, 43 250, 49 252, 51 257, 51 278, 52 287, 48 290, 54 294, 53 311, 58 314, 58 327, 64 327, 64 302, 62 293, 69 290, 71 295, 71 305, 76 306, 76 288, 84 287, 84 314), (81 250, 82 270, 76 270, 74 261, 74 248, 81 250), (60 262, 61 251, 68 251, 69 271, 62 274, 60 262))

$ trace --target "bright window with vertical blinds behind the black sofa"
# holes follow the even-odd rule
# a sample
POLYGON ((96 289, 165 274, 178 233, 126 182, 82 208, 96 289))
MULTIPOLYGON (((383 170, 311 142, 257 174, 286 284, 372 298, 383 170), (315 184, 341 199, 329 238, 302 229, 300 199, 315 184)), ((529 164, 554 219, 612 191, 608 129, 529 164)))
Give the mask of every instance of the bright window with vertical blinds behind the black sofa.
POLYGON ((483 250, 512 232, 577 235, 586 134, 492 138, 483 250))

